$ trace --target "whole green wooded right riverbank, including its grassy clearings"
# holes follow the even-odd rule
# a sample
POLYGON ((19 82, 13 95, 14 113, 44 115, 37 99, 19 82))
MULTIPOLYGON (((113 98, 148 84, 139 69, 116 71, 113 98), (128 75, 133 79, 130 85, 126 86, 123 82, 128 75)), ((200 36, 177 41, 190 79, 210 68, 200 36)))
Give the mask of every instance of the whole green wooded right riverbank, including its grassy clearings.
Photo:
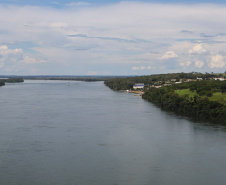
POLYGON ((105 81, 105 85, 113 90, 126 90, 132 89, 135 83, 144 83, 142 98, 164 110, 225 123, 226 81, 214 80, 223 75, 209 73, 161 74, 109 79, 105 81), (202 80, 199 81, 197 78, 202 78, 202 80), (164 86, 167 81, 172 79, 174 82, 180 81, 181 83, 164 86), (183 83, 186 79, 194 79, 194 81, 183 83), (151 87, 156 83, 162 84, 162 87, 151 87))

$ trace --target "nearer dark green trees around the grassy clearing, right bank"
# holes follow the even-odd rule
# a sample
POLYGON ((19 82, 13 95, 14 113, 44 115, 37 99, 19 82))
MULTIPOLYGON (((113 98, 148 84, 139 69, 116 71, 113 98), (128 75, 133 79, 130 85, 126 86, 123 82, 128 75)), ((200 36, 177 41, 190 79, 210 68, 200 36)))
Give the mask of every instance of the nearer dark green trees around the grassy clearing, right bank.
MULTIPOLYGON (((209 80, 188 82, 168 87, 146 89, 142 98, 156 104, 164 110, 170 110, 182 115, 194 116, 206 120, 224 122, 226 120, 226 104, 210 101, 214 92, 226 93, 226 81, 209 80), (197 95, 179 95, 176 90, 189 89, 197 95)), ((222 100, 223 101, 223 100, 222 100)))

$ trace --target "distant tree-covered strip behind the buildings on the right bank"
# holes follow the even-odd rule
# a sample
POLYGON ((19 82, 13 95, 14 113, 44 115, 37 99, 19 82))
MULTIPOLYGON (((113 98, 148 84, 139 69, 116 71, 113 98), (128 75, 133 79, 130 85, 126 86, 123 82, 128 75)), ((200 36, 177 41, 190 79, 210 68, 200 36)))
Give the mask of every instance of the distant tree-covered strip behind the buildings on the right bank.
POLYGON ((145 86, 153 85, 155 82, 160 82, 164 84, 166 81, 175 79, 175 81, 183 79, 210 79, 223 77, 223 74, 212 74, 212 73, 170 73, 170 74, 156 74, 149 76, 136 76, 129 78, 113 78, 105 81, 105 85, 110 87, 112 90, 127 90, 132 89, 135 83, 144 83, 145 86))

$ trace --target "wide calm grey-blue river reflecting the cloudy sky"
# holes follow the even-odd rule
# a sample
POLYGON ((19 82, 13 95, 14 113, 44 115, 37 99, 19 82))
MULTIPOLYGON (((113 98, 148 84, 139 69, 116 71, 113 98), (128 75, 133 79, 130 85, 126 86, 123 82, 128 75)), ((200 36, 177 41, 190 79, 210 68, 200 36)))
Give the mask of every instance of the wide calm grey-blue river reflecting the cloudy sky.
POLYGON ((1 185, 225 185, 226 128, 103 82, 0 87, 1 185))

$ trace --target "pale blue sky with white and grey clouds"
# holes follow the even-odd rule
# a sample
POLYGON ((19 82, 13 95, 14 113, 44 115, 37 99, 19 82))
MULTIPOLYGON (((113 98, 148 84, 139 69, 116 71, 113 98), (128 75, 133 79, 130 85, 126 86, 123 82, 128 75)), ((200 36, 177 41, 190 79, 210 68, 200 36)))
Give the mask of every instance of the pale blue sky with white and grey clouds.
POLYGON ((0 75, 226 71, 225 0, 0 0, 0 75))

